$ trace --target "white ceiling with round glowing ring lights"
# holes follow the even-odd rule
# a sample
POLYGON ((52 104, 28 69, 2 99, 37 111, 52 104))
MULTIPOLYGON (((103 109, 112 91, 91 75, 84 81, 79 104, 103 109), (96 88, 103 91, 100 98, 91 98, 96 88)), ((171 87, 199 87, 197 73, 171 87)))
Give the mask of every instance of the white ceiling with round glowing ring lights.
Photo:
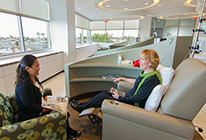
MULTIPOLYGON (((116 19, 121 20, 139 19, 141 16, 159 18, 163 15, 179 13, 177 16, 173 15, 173 18, 183 18, 182 15, 186 16, 186 13, 191 12, 193 12, 193 14, 188 14, 190 18, 198 15, 196 7, 184 5, 188 0, 102 0, 105 1, 102 6, 106 8, 106 10, 98 7, 97 4, 100 1, 101 0, 75 0, 75 11, 90 20, 105 20, 111 17, 113 17, 113 19, 116 17, 116 19), (151 5, 153 1, 159 1, 159 3, 150 8, 130 11, 151 5), (148 3, 148 5, 146 3, 148 3)), ((190 1, 191 4, 197 5, 197 0, 190 1)))

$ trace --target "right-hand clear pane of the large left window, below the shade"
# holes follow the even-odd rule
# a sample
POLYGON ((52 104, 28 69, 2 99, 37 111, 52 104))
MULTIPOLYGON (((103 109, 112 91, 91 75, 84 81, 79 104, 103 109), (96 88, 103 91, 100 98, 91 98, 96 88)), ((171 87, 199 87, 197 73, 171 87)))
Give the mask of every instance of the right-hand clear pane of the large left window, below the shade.
POLYGON ((48 48, 47 22, 22 17, 26 51, 48 48))

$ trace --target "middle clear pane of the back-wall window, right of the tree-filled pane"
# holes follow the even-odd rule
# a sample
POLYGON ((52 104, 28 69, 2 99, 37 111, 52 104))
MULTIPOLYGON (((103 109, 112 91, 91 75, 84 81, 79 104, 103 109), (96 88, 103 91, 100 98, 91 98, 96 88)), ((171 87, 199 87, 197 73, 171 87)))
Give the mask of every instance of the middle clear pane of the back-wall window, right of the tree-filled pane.
POLYGON ((106 42, 122 42, 123 30, 107 30, 106 42))

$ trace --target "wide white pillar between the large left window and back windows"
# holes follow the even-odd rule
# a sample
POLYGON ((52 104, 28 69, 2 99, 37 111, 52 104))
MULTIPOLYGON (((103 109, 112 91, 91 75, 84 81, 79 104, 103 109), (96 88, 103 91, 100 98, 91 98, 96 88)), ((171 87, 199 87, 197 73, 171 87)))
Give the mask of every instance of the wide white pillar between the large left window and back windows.
POLYGON ((63 64, 67 64, 75 60, 74 0, 49 0, 49 2, 52 49, 62 50, 63 64))

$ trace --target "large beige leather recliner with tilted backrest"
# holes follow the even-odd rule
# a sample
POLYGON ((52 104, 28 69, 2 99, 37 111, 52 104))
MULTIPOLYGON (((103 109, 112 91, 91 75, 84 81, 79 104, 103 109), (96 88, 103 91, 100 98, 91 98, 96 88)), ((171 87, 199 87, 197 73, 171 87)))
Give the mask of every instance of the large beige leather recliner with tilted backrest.
POLYGON ((192 140, 193 118, 206 102, 206 64, 189 58, 174 78, 157 112, 105 100, 103 140, 192 140))

